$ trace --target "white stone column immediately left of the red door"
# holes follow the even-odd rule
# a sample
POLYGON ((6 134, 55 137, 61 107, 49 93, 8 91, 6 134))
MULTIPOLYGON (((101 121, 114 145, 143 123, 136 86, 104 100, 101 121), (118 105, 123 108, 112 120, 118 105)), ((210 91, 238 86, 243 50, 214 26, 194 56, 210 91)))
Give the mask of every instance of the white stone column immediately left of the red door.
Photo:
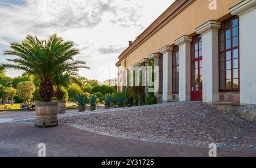
POLYGON ((190 79, 191 79, 191 41, 192 37, 182 36, 175 40, 179 46, 179 100, 190 101, 190 79))

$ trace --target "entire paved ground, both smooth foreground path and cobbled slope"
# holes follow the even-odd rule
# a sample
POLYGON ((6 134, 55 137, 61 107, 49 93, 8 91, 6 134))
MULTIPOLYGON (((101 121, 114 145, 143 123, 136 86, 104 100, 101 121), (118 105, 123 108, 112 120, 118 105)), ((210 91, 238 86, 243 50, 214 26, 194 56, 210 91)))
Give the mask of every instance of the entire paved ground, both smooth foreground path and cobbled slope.
POLYGON ((255 124, 200 102, 76 111, 52 128, 35 127, 35 112, 0 114, 0 156, 36 156, 39 143, 47 156, 208 156, 210 143, 218 156, 256 156, 255 124))

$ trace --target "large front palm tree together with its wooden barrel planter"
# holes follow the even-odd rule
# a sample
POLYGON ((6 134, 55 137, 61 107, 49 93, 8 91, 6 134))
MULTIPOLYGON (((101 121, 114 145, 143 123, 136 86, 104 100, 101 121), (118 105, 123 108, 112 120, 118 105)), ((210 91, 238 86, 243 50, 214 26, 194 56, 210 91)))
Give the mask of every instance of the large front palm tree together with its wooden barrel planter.
POLYGON ((27 35, 22 42, 12 42, 5 54, 17 56, 7 59, 10 63, 1 64, 5 70, 23 70, 40 80, 42 101, 36 102, 36 126, 57 126, 58 103, 51 101, 54 94, 52 80, 65 71, 88 68, 85 61, 73 59, 79 54, 79 49, 73 47, 72 41, 64 41, 56 34, 47 40, 27 35))

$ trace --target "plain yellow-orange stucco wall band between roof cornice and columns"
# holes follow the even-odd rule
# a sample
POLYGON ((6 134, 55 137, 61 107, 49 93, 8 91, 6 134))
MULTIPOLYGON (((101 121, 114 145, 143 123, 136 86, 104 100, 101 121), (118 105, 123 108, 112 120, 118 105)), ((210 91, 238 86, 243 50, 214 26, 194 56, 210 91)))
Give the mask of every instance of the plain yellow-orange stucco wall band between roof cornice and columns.
MULTIPOLYGON (((192 35, 195 28, 209 20, 220 20, 228 15, 229 8, 237 5, 242 0, 217 0, 217 10, 209 10, 208 0, 196 0, 173 20, 165 25, 160 31, 150 37, 144 44, 139 46, 128 57, 127 66, 132 66, 143 58, 147 58, 151 53, 158 53, 159 49, 166 45, 173 45, 174 40, 183 35, 192 35)), ((222 20, 220 20, 222 21, 222 20)), ((121 65, 123 66, 123 61, 121 65)))

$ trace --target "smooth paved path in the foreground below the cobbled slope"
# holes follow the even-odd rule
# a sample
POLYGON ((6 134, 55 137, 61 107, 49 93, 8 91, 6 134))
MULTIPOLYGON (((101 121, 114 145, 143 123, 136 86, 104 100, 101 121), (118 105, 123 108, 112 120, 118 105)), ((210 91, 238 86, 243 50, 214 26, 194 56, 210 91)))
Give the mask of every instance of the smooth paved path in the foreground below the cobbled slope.
MULTIPOLYGON (((128 140, 84 131, 68 124, 35 127, 34 123, 0 124, 0 156, 38 156, 38 144, 46 144, 46 156, 205 156, 208 148, 128 140)), ((256 156, 255 150, 217 149, 217 156, 256 156)))

